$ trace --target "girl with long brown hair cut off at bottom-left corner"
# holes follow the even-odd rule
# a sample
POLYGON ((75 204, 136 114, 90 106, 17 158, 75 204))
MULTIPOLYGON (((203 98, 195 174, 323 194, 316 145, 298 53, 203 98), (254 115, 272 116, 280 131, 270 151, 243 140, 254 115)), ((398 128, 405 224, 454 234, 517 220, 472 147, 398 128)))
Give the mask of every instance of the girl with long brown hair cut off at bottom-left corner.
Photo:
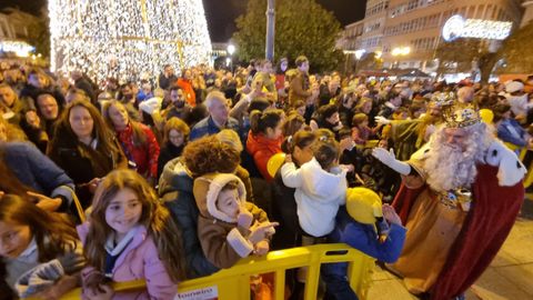
POLYGON ((19 196, 0 198, 0 299, 59 299, 76 288, 84 259, 73 224, 19 196))

